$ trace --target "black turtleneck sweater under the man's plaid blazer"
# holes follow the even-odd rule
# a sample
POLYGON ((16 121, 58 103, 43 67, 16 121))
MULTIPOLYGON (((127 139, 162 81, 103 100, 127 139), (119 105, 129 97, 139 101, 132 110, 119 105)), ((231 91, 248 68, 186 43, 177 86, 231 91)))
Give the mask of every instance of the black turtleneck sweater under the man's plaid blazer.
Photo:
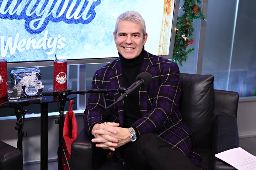
MULTIPOLYGON (((144 58, 144 46, 138 57, 126 59, 118 53, 122 63, 123 87, 132 85, 140 73, 144 58)), ((139 90, 124 98, 124 128, 129 128, 136 120, 142 117, 139 107, 139 90)))

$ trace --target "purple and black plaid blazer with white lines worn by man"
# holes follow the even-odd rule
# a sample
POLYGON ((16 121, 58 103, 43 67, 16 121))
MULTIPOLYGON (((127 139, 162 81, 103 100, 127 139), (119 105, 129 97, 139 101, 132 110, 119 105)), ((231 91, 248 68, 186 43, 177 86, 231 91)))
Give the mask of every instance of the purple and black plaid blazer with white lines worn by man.
MULTIPOLYGON (((201 157, 192 151, 192 134, 179 110, 181 89, 177 64, 145 51, 141 72, 150 73, 152 82, 139 89, 139 106, 143 117, 132 125, 139 132, 137 137, 152 132, 200 166, 201 157)), ((118 89, 123 87, 122 78, 121 60, 117 58, 95 72, 92 89, 118 89)), ((90 94, 84 112, 84 128, 91 137, 91 129, 96 123, 107 121, 123 126, 123 101, 110 108, 107 120, 103 115, 105 108, 119 96, 121 94, 118 92, 110 92, 104 99, 103 94, 90 94)))

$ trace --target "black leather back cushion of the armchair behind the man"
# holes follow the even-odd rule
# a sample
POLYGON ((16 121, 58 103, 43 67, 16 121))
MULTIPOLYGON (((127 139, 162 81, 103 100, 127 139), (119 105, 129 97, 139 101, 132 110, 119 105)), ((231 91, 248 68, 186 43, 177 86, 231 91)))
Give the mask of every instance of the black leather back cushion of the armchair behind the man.
POLYGON ((213 75, 180 73, 180 111, 196 147, 210 148, 213 137, 213 75))

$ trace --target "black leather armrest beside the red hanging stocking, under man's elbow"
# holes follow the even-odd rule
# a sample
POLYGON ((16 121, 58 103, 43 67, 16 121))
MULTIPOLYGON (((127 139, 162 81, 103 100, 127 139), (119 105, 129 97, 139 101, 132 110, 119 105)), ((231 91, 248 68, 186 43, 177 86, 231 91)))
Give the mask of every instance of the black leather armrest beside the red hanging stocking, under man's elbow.
POLYGON ((106 160, 106 150, 98 148, 84 129, 71 145, 71 170, 97 170, 106 160))

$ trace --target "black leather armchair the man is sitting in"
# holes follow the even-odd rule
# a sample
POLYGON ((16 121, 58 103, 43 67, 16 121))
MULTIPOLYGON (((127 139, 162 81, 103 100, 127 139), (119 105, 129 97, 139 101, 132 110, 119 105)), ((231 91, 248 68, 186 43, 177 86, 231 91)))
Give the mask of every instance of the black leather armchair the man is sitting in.
MULTIPOLYGON (((203 158, 202 169, 235 169, 215 154, 239 147, 238 93, 214 90, 212 75, 180 73, 180 80, 180 109, 203 158)), ((71 170, 97 170, 105 157, 106 151, 95 147, 82 130, 71 147, 71 170)))

